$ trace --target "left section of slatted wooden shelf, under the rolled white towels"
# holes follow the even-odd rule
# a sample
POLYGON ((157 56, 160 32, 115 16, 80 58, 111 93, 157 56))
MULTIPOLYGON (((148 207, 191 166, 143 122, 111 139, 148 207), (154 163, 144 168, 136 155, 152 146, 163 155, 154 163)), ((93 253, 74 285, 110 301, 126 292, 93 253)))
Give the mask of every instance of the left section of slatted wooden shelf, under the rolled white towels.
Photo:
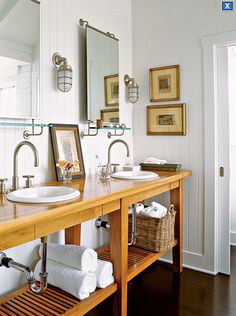
POLYGON ((80 301, 51 285, 42 295, 35 295, 25 286, 0 300, 0 316, 82 316, 116 291, 117 284, 113 283, 80 301))

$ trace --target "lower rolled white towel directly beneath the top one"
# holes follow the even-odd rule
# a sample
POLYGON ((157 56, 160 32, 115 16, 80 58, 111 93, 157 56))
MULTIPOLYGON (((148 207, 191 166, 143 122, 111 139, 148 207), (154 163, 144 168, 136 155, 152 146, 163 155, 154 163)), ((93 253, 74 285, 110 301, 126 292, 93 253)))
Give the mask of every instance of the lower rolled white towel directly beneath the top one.
MULTIPOLYGON (((35 267, 35 278, 39 279, 41 260, 35 267)), ((97 285, 94 273, 83 272, 51 260, 47 261, 48 283, 74 295, 80 300, 89 297, 97 285)))

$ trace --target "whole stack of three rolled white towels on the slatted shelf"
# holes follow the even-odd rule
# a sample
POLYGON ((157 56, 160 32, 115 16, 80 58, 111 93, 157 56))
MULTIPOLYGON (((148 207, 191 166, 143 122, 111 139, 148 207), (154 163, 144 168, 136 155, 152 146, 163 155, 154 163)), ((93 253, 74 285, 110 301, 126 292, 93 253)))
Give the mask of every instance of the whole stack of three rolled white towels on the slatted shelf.
MULTIPOLYGON (((42 245, 39 247, 42 257, 42 245)), ((83 300, 96 287, 105 288, 114 282, 111 262, 98 260, 93 249, 76 245, 48 244, 48 283, 83 300)), ((35 268, 39 276, 41 261, 35 268)))

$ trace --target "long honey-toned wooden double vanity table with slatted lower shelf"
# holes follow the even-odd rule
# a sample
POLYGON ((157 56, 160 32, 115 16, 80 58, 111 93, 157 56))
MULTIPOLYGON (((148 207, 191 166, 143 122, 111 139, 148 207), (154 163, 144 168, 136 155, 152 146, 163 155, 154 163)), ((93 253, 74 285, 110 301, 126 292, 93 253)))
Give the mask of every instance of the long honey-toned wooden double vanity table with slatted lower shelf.
MULTIPOLYGON (((42 315, 42 308, 46 309, 47 315, 84 315, 115 293, 114 314, 125 316, 128 282, 171 250, 154 253, 128 247, 128 206, 168 191, 177 211, 173 267, 175 272, 181 273, 183 181, 191 176, 191 172, 159 172, 159 176, 151 181, 111 179, 103 184, 89 176, 70 184, 81 192, 81 196, 68 203, 29 205, 11 203, 3 197, 0 200, 0 251, 62 229, 66 229, 66 243, 79 245, 80 224, 108 214, 110 244, 97 252, 100 259, 112 261, 116 283, 96 290, 81 302, 51 286, 42 296, 36 296, 24 287, 0 300, 0 315, 32 315, 32 310, 35 315, 42 315)), ((52 182, 49 185, 64 184, 52 182)))

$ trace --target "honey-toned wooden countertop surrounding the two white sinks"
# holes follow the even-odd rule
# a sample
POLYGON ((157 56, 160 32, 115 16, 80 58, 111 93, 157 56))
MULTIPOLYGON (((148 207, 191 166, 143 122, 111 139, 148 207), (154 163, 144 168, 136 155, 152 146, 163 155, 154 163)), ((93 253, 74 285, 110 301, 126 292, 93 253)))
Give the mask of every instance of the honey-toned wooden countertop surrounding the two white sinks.
MULTIPOLYGON (((9 234, 11 230, 22 229, 38 223, 47 222, 54 217, 73 214, 76 211, 86 211, 116 199, 133 195, 145 190, 163 186, 189 177, 190 171, 158 172, 157 180, 133 181, 111 179, 107 183, 99 183, 95 176, 87 176, 71 182, 73 187, 81 192, 78 199, 66 203, 55 204, 23 204, 12 203, 5 196, 0 197, 0 235, 9 234)), ((44 185, 63 186, 64 183, 50 182, 44 185)))

